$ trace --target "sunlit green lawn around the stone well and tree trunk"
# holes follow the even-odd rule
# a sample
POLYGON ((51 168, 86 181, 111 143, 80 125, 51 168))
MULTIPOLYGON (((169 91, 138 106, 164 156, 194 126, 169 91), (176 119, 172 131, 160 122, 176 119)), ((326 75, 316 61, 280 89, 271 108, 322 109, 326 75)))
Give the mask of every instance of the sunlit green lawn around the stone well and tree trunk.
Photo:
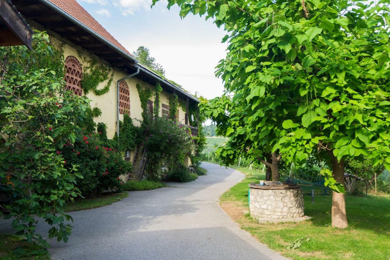
POLYGON ((248 183, 264 180, 255 170, 237 168, 246 178, 225 192, 221 207, 269 248, 293 259, 390 259, 390 196, 346 196, 348 227, 332 228, 332 196, 324 195, 323 187, 302 186, 305 215, 312 219, 301 223, 259 224, 249 214, 248 183), (315 203, 311 203, 311 190, 315 203), (286 247, 297 239, 304 239, 300 248, 286 247), (306 238, 310 240, 306 241, 306 238))

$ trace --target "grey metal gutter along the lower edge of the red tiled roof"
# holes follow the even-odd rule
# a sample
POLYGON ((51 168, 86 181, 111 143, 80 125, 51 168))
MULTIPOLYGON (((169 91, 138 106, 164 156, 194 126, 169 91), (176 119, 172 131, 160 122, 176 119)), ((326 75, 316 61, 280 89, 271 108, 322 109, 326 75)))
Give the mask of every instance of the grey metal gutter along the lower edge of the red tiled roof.
POLYGON ((105 37, 97 34, 94 30, 92 30, 91 28, 89 28, 87 25, 83 24, 82 22, 80 22, 79 20, 77 20, 76 18, 74 18, 73 16, 71 16, 70 14, 68 14, 67 12, 65 12, 64 10, 62 10, 61 8, 59 8, 57 5, 53 4, 52 2, 48 1, 48 0, 39 0, 39 2, 47 5, 48 7, 50 7, 51 9, 53 9, 54 11, 62 14, 65 18, 67 18, 68 20, 72 21, 73 23, 75 23, 76 25, 78 25, 79 27, 81 27, 83 30, 89 32, 90 34, 92 34, 94 37, 96 37, 97 39, 99 39, 100 41, 102 41, 103 43, 105 43, 106 45, 110 46, 111 48, 113 48, 114 50, 116 50, 117 52, 119 52, 120 54, 122 54, 124 57, 130 59, 131 61, 135 62, 135 63, 138 63, 137 59, 135 59, 133 56, 131 56, 130 54, 124 52, 123 50, 121 50, 120 48, 118 48, 117 46, 115 46, 113 43, 111 43, 110 41, 108 41, 105 37))

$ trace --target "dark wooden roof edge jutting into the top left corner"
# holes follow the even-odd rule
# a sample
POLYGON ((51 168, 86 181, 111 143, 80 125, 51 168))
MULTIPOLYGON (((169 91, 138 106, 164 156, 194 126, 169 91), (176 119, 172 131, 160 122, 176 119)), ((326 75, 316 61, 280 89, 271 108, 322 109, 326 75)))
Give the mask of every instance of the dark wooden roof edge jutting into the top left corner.
MULTIPOLYGON (((27 48, 31 50, 32 35, 30 30, 28 30, 27 25, 23 23, 21 18, 16 14, 16 12, 5 0, 0 0, 0 18, 9 28, 10 31, 8 32, 8 34, 14 34, 20 40, 20 45, 26 45, 27 48)), ((11 39, 8 40, 10 41, 11 39)), ((6 39, 2 41, 2 44, 6 44, 6 41, 6 39)), ((15 45, 15 43, 12 42, 12 45, 15 45)))

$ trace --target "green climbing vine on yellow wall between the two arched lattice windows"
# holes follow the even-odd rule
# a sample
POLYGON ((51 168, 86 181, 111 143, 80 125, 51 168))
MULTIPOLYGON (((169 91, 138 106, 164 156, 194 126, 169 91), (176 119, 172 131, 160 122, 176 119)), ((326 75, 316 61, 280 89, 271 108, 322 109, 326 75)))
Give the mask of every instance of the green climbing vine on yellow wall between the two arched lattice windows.
POLYGON ((88 66, 84 66, 83 78, 81 80, 81 87, 84 93, 87 94, 90 90, 93 90, 96 95, 101 96, 110 91, 114 78, 113 69, 95 59, 91 59, 80 51, 78 52, 78 56, 84 64, 89 64, 88 66), (108 80, 107 84, 102 89, 97 89, 99 84, 106 80, 108 80))

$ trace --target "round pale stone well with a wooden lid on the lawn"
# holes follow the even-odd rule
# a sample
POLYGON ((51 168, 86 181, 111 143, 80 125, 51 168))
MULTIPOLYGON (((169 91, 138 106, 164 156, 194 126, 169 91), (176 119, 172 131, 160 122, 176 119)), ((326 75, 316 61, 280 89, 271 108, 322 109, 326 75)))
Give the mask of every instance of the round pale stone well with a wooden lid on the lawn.
POLYGON ((251 183, 249 187, 249 212, 259 222, 296 222, 308 218, 304 216, 303 192, 298 185, 251 183))

